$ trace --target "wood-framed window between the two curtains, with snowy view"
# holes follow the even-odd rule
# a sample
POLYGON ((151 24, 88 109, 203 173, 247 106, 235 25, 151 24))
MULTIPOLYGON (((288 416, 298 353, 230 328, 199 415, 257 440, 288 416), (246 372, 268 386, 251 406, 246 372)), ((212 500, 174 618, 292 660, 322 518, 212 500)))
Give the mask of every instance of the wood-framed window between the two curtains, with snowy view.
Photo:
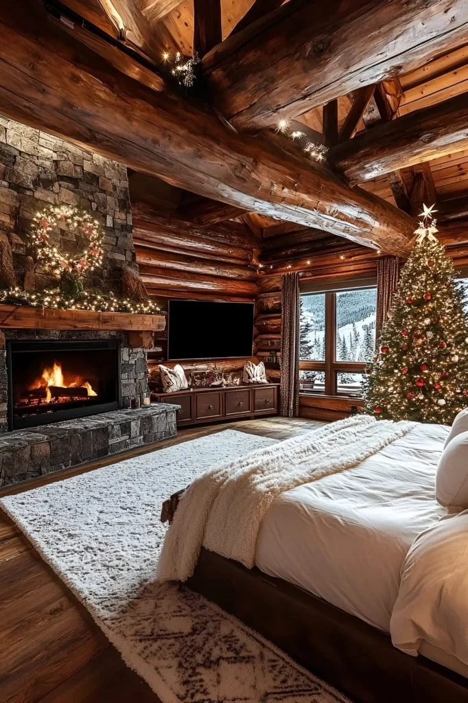
POLYGON ((301 295, 301 392, 359 396, 375 347, 377 289, 301 295))

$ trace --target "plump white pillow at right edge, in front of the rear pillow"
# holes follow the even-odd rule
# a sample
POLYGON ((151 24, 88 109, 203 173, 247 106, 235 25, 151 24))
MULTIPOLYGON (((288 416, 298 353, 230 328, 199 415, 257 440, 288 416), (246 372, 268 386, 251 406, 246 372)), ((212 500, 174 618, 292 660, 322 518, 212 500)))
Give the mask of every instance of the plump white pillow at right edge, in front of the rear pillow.
POLYGON ((436 473, 436 499, 446 507, 468 508, 468 432, 457 434, 442 452, 436 473))

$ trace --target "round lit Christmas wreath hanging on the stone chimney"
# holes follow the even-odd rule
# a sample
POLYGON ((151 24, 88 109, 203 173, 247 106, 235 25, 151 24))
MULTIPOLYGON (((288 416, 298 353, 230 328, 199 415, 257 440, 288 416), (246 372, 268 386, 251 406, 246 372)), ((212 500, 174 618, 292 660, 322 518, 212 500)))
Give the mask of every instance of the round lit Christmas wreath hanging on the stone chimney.
POLYGON ((103 263, 103 235, 98 221, 86 210, 69 205, 50 205, 38 212, 32 220, 31 242, 39 261, 61 272, 93 271, 103 263), (81 252, 64 254, 53 245, 50 233, 60 223, 84 239, 86 245, 81 252))

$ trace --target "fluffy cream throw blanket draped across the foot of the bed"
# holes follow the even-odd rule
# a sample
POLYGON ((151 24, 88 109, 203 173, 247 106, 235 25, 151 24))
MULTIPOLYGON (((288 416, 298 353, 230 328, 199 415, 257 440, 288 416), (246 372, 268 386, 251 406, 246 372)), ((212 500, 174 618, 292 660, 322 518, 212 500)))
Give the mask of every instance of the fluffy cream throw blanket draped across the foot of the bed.
POLYGON ((157 578, 186 581, 202 546, 251 569, 261 521, 276 496, 356 466, 414 426, 353 416, 258 449, 200 476, 178 504, 157 578))

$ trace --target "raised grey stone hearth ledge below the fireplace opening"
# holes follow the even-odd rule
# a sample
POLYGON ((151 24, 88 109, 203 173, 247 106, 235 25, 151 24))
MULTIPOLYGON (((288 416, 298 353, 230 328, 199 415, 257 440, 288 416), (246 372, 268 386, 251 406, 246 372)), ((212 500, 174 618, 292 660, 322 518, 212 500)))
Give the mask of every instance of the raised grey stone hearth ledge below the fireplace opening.
POLYGON ((180 406, 153 404, 0 434, 0 486, 176 435, 180 406))

